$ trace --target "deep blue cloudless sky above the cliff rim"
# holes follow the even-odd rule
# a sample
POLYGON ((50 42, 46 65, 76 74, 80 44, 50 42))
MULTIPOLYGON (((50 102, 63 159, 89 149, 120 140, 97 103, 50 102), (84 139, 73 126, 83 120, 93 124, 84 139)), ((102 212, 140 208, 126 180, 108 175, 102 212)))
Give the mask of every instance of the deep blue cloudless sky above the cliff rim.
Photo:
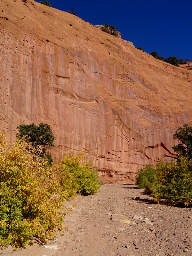
POLYGON ((177 56, 192 61, 192 0, 49 2, 62 11, 73 7, 76 16, 93 25, 116 26, 124 40, 145 52, 156 51, 164 58, 177 56))

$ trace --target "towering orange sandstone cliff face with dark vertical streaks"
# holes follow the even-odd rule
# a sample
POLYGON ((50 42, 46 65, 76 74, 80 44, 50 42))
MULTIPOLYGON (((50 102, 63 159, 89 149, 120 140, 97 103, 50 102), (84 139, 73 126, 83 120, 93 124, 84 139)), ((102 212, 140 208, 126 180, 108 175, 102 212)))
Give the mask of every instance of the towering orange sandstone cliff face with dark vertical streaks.
POLYGON ((192 124, 190 70, 33 0, 0 10, 0 127, 11 142, 17 125, 50 124, 53 159, 85 151, 106 182, 174 157, 176 128, 192 124))

